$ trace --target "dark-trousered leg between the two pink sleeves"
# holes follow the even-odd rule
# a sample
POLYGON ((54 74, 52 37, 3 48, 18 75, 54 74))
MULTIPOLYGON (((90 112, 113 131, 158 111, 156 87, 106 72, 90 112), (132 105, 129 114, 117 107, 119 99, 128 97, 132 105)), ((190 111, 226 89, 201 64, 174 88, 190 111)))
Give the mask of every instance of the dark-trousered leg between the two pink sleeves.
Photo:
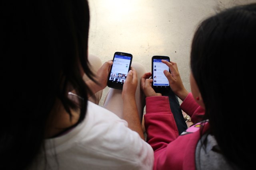
POLYGON ((169 97, 170 108, 174 116, 176 125, 178 127, 179 134, 181 134, 188 127, 187 127, 186 121, 184 120, 182 110, 180 109, 180 103, 179 103, 178 97, 174 94, 174 92, 172 92, 172 90, 162 95, 169 97))

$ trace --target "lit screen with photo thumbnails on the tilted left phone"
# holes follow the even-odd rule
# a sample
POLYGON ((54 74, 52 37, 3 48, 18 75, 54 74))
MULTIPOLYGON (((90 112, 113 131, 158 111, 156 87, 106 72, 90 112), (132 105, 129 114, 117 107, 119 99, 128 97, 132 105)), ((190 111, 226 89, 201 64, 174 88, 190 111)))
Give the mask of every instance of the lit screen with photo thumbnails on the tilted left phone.
MULTIPOLYGON (((124 84, 128 74, 132 57, 126 55, 114 55, 112 70, 110 72, 109 81, 118 84, 124 84)), ((114 88, 114 87, 113 87, 114 88)))

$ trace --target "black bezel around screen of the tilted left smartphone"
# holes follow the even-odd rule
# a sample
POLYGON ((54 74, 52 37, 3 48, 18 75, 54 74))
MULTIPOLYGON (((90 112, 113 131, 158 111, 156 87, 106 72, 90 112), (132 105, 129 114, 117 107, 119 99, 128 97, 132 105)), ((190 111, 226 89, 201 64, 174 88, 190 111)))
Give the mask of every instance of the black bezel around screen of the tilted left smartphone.
MULTIPOLYGON (((114 57, 113 57, 113 60, 112 60, 112 61, 114 61, 116 55, 122 55, 122 56, 131 57, 130 65, 129 65, 129 69, 128 69, 128 71, 129 71, 129 70, 131 69, 131 64, 132 64, 132 54, 117 51, 117 52, 114 53, 114 57)), ((112 64, 112 66, 113 66, 113 64, 112 64)), ((109 80, 109 79, 110 79, 110 74, 111 74, 111 72, 112 72, 112 66, 111 66, 110 72, 109 72, 109 74, 108 74, 107 86, 108 86, 109 88, 115 88, 115 89, 122 90, 122 89, 123 89, 123 86, 124 86, 124 83, 117 83, 117 82, 112 82, 112 80, 109 80)), ((127 74, 128 74, 128 72, 127 72, 127 74)))

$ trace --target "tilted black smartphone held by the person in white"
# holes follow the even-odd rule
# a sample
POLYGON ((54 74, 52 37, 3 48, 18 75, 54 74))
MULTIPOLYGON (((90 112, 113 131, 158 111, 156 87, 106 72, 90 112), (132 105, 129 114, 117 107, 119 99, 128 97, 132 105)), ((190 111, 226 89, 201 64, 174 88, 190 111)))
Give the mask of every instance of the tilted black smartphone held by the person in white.
POLYGON ((122 90, 128 71, 131 69, 131 64, 132 54, 115 52, 108 75, 108 87, 122 90))

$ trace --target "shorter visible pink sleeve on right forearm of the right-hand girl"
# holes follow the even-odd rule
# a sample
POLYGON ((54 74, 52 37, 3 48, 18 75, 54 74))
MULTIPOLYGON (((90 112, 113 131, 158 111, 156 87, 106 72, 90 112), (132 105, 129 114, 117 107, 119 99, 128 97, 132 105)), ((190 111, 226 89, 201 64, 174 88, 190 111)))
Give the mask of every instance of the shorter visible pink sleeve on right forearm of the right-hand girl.
POLYGON ((192 93, 188 94, 188 96, 180 105, 180 108, 191 117, 193 123, 202 121, 202 117, 205 111, 201 106, 199 106, 198 103, 196 103, 192 93))

